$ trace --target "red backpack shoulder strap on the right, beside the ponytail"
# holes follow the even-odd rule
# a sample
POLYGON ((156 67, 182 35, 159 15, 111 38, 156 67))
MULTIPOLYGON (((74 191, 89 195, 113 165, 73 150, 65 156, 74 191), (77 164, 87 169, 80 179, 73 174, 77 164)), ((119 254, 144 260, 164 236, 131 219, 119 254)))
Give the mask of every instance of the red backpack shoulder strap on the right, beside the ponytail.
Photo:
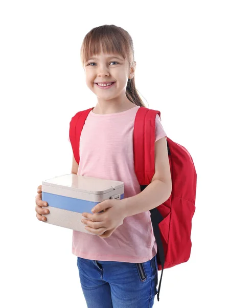
POLYGON ((140 107, 133 129, 134 170, 140 185, 148 185, 155 173, 154 143, 157 110, 140 107))

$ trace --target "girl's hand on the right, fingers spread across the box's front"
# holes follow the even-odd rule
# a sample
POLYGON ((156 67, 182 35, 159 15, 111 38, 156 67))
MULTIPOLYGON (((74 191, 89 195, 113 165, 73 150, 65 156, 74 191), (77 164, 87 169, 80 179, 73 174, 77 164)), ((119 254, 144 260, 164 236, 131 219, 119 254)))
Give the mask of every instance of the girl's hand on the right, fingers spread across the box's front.
POLYGON ((102 238, 110 237, 114 230, 123 224, 126 217, 121 201, 108 199, 97 204, 94 207, 95 211, 91 210, 94 214, 82 213, 82 216, 88 219, 82 217, 81 220, 87 225, 85 229, 102 238), (104 210, 104 212, 98 213, 101 210, 104 210))

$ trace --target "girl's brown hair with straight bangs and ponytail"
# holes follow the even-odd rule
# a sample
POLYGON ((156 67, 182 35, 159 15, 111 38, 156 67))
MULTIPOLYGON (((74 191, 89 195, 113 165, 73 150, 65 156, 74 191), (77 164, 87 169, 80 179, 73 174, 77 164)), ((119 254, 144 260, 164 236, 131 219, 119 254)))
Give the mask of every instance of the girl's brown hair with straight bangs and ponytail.
MULTIPOLYGON (((99 54, 102 50, 105 53, 118 53, 124 59, 128 59, 130 66, 135 66, 133 41, 129 33, 115 25, 103 25, 91 29, 84 37, 80 50, 81 62, 90 59, 91 56, 99 54)), ((126 97, 137 106, 146 107, 135 87, 134 76, 128 79, 126 97)))

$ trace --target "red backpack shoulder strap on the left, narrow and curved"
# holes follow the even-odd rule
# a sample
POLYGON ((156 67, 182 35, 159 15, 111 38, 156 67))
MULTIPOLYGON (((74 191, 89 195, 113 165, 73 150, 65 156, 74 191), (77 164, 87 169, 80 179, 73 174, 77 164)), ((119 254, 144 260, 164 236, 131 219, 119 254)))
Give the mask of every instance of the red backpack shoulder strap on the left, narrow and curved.
MULTIPOLYGON (((93 107, 94 108, 94 107, 93 107)), ((70 122, 69 139, 73 149, 74 158, 79 164, 80 162, 80 136, 83 125, 86 121, 87 115, 93 108, 77 112, 70 122)))

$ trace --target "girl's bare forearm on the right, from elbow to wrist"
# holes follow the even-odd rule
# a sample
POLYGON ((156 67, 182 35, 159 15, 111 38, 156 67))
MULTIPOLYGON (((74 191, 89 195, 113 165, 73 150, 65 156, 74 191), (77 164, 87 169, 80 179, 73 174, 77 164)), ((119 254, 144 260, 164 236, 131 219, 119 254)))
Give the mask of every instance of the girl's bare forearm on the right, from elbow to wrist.
POLYGON ((171 185, 154 180, 140 194, 122 199, 125 217, 148 211, 161 205, 171 195, 171 185))

